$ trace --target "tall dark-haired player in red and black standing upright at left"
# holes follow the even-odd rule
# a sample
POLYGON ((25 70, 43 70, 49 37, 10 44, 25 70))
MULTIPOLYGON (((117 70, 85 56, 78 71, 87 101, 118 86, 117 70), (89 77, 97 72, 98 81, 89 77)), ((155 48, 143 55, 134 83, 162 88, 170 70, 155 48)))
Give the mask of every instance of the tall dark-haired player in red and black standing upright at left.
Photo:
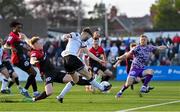
POLYGON ((22 24, 16 21, 11 22, 10 27, 12 31, 9 34, 9 37, 6 41, 6 47, 11 48, 12 55, 11 55, 11 63, 20 69, 26 71, 29 74, 27 79, 26 85, 23 89, 23 93, 26 97, 30 97, 28 93, 28 88, 30 85, 33 87, 34 96, 38 96, 39 92, 37 91, 37 84, 36 84, 36 71, 31 66, 29 62, 29 56, 27 54, 29 47, 27 46, 26 42, 21 40, 21 30, 22 24))

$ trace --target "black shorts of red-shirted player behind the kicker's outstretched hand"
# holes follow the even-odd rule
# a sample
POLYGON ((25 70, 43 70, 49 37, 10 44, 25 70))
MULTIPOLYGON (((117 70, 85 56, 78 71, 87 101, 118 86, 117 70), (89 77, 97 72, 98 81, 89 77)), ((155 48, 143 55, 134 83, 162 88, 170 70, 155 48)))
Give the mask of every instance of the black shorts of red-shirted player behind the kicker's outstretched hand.
POLYGON ((97 73, 98 70, 102 70, 103 72, 107 70, 107 68, 100 63, 90 63, 90 67, 92 68, 92 71, 95 73, 97 73))

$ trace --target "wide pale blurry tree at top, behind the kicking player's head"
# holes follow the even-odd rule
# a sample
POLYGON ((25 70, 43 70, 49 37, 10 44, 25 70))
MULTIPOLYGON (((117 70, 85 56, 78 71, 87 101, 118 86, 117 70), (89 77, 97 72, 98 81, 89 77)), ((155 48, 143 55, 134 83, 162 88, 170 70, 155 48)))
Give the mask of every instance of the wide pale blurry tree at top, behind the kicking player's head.
POLYGON ((34 17, 47 18, 51 26, 77 25, 79 4, 76 0, 31 0, 30 4, 34 17))

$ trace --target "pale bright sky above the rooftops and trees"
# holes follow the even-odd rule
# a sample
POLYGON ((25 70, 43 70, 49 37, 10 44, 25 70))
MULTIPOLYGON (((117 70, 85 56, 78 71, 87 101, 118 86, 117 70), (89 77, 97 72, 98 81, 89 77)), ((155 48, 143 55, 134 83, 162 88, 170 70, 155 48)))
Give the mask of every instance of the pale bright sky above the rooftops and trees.
MULTIPOLYGON (((156 0, 82 0, 85 4, 85 11, 93 10, 96 3, 103 2, 108 9, 115 5, 118 9, 118 14, 126 13, 128 17, 141 17, 150 14, 150 7, 156 0)), ((88 17, 88 14, 85 14, 88 17)))

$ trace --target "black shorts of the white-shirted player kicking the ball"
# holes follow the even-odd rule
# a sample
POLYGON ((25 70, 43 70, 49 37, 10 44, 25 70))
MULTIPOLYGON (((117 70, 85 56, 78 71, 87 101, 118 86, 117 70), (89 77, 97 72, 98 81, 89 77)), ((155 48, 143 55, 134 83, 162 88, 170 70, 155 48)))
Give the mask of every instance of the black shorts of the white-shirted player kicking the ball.
POLYGON ((81 62, 81 60, 73 55, 63 57, 63 64, 66 72, 70 74, 84 68, 84 64, 81 62))

